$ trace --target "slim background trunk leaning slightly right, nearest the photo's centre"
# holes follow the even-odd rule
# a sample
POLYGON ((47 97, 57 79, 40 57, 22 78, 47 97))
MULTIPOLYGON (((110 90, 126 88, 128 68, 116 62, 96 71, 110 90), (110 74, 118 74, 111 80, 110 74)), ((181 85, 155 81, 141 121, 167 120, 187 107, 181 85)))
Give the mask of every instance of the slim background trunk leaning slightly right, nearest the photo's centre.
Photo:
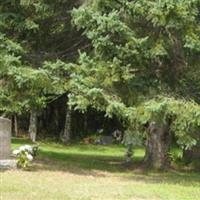
POLYGON ((71 141, 71 119, 72 119, 72 111, 71 109, 67 109, 63 136, 61 137, 62 142, 64 142, 65 144, 71 141))

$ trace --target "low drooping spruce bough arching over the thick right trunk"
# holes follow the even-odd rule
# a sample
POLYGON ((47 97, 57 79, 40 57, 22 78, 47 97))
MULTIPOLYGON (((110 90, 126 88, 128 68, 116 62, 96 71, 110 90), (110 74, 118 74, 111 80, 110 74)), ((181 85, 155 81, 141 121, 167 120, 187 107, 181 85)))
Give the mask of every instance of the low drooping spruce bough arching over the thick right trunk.
POLYGON ((191 148, 200 136, 200 106, 192 101, 169 97, 151 99, 137 107, 130 124, 133 129, 141 131, 152 121, 169 124, 182 148, 191 148))

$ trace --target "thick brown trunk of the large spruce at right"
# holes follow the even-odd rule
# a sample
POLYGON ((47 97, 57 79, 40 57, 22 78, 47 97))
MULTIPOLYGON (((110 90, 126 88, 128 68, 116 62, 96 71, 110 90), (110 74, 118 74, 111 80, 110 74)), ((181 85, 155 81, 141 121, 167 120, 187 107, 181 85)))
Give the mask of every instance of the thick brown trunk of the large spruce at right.
POLYGON ((170 149, 170 133, 168 125, 151 122, 148 127, 146 155, 144 164, 148 168, 165 169, 170 165, 168 157, 170 149))

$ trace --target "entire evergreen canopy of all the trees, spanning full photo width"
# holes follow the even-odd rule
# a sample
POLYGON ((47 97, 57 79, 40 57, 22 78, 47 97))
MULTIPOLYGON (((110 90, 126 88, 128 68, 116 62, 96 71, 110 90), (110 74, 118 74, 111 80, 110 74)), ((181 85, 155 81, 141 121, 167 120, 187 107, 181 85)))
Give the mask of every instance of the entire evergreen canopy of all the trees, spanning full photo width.
POLYGON ((198 142, 199 0, 6 0, 0 42, 2 114, 40 112, 69 139, 72 111, 95 109, 128 144, 155 130, 198 142))

